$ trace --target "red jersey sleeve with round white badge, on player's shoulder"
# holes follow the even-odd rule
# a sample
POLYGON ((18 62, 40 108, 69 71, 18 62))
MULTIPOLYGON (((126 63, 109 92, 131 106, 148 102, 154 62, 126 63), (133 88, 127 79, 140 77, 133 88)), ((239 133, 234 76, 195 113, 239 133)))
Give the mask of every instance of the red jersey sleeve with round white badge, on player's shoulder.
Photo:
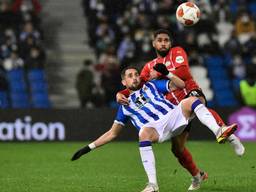
POLYGON ((182 65, 188 66, 188 56, 185 50, 181 47, 174 47, 171 49, 172 62, 175 68, 182 65))

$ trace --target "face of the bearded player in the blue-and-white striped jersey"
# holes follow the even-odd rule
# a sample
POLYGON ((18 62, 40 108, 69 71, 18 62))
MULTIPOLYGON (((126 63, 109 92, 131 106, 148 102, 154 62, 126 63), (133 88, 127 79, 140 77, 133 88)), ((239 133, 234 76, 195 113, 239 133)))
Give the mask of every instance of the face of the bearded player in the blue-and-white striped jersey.
POLYGON ((138 90, 140 85, 140 74, 136 69, 127 69, 125 71, 122 83, 130 90, 138 90))

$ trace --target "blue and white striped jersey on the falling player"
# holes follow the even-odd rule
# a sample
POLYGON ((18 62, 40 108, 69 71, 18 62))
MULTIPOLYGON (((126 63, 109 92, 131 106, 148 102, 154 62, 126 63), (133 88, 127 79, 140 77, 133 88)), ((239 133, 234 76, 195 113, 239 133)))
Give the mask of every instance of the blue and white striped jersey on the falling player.
POLYGON ((169 91, 169 80, 148 81, 143 87, 133 92, 128 100, 129 105, 120 105, 115 122, 124 125, 129 119, 140 130, 146 123, 157 121, 174 108, 164 98, 169 91))

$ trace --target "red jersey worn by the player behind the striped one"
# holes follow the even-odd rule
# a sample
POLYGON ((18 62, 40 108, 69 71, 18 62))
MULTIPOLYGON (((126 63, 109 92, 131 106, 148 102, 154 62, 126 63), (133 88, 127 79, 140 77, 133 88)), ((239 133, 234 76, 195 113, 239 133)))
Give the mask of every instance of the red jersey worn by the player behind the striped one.
MULTIPOLYGON (((185 87, 183 89, 178 88, 166 94, 166 99, 172 103, 178 104, 189 92, 195 89, 200 89, 190 73, 187 54, 181 47, 173 47, 165 57, 156 58, 148 62, 140 73, 142 81, 146 82, 150 80, 150 72, 151 70, 154 70, 153 66, 157 63, 165 64, 171 73, 175 74, 185 82, 185 87)), ((160 73, 157 75, 159 75, 159 77, 162 76, 160 73)))

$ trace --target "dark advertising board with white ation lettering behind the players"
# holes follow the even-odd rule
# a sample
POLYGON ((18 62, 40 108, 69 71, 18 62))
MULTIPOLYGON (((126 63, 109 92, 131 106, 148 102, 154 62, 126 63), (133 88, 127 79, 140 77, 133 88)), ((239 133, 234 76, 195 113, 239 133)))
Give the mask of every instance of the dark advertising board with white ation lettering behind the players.
MULTIPOLYGON (((242 140, 256 140, 256 110, 218 108, 227 121, 239 123, 242 140)), ((89 141, 107 131, 113 123, 115 110, 1 110, 0 141, 89 141)), ((213 140, 213 134, 197 119, 193 120, 191 140, 213 140)), ((137 140, 136 129, 128 125, 117 140, 137 140)))

